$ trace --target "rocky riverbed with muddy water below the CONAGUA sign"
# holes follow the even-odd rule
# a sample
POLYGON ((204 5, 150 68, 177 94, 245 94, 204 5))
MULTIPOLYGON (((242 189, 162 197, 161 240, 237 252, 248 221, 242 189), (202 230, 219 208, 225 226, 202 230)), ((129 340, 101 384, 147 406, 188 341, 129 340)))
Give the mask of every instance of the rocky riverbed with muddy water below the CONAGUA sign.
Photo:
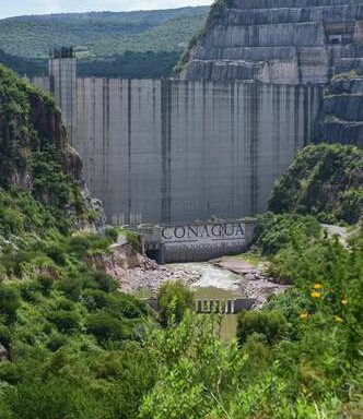
MULTIPOLYGON (((155 298, 166 280, 183 280, 195 291, 196 300, 248 298, 255 300, 253 309, 259 310, 271 294, 286 288, 266 276, 264 264, 253 264, 243 256, 166 265, 157 265, 147 258, 141 262, 128 267, 116 264, 116 268, 115 263, 112 263, 108 273, 119 282, 121 290, 144 299, 155 298)), ((235 336, 236 323, 236 314, 223 314, 223 339, 235 336)))

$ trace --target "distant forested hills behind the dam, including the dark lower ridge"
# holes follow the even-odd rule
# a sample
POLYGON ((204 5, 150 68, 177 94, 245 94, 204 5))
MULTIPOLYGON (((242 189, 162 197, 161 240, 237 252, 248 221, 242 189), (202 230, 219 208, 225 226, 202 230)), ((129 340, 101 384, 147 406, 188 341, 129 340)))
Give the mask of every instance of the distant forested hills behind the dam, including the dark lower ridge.
MULTIPOLYGON (((74 46, 83 75, 168 75, 183 48, 202 28, 208 12, 208 7, 196 7, 4 19, 0 21, 0 50, 16 58, 45 60, 54 47, 74 46), (144 74, 144 61, 149 61, 150 75, 144 74)), ((14 70, 16 58, 11 63, 14 70)), ((39 73, 38 65, 28 64, 28 74, 39 73)))

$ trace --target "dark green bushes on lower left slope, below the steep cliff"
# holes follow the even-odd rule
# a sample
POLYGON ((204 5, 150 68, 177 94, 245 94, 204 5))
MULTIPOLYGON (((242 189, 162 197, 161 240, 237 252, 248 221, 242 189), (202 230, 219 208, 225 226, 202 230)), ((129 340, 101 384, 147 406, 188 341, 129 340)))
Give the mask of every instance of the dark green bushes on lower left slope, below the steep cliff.
POLYGON ((91 267, 108 246, 95 235, 40 240, 27 250, 26 278, 22 250, 11 262, 1 256, 2 268, 13 266, 12 280, 0 283, 0 343, 10 356, 0 363, 2 419, 136 417, 153 382, 141 344, 148 310, 91 267))

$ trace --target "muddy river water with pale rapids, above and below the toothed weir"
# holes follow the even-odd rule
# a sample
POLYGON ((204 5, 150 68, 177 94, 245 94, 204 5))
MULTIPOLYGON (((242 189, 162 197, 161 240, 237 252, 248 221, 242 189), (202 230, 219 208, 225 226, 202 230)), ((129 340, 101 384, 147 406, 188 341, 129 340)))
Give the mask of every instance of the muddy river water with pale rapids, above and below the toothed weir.
MULTIPOLYGON (((243 298, 241 292, 241 276, 222 270, 211 263, 178 263, 169 265, 176 270, 192 270, 201 274, 199 280, 192 284, 196 299, 233 299, 243 298)), ((201 314, 208 315, 208 314, 201 314)), ((221 338, 230 340, 236 335, 237 315, 223 314, 221 323, 221 338)))

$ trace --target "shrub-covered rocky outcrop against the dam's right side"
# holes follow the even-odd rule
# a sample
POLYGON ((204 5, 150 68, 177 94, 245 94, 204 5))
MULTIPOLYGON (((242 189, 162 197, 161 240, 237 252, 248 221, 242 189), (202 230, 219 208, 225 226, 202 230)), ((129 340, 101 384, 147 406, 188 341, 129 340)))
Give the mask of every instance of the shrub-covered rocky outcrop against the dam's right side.
POLYGON ((311 214, 327 224, 355 224, 363 214, 362 173, 362 149, 309 145, 276 183, 269 210, 311 214))

